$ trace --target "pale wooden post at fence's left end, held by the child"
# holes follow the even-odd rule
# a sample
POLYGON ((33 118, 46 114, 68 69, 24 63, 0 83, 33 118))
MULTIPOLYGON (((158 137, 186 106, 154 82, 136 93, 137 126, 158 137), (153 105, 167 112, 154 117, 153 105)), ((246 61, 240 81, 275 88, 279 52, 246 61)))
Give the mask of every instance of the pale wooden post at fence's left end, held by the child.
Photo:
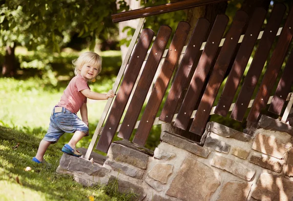
MULTIPOLYGON (((121 81, 121 79, 123 77, 124 71, 126 69, 127 62, 128 62, 128 60, 130 58, 131 52, 132 52, 132 50, 134 48, 134 45, 135 45, 136 40, 138 39, 138 35, 139 35, 139 33, 140 33, 143 25, 144 25, 144 22, 145 22, 145 18, 141 18, 139 20, 138 25, 137 25, 137 28, 136 28, 136 30, 134 32, 134 35, 133 35, 132 39, 131 39, 131 42, 130 42, 130 45, 128 47, 126 56, 125 56, 125 58, 123 60, 123 63, 122 63, 121 68, 120 68, 120 71, 119 71, 119 73, 117 75, 117 78, 115 80, 115 83, 114 83, 114 86, 113 86, 113 89, 112 89, 115 93, 116 93, 116 91, 118 89, 118 86, 119 86, 119 83, 120 83, 120 81, 121 81)), ((110 106, 111 106, 112 101, 113 101, 113 98, 110 98, 110 99, 108 99, 108 101, 106 103, 106 106, 104 108, 104 111, 102 113, 102 116, 100 118, 100 121, 99 121, 99 123, 97 125, 97 128, 95 130, 95 133, 93 135, 93 138, 90 141, 90 144, 89 144, 89 146, 87 148, 87 151, 86 151, 86 154, 84 156, 84 159, 86 159, 86 160, 89 159, 89 156, 90 156, 91 152, 93 151, 94 145, 95 145, 95 143, 97 141, 97 138, 98 138, 98 136, 100 134, 100 130, 101 130, 102 125, 103 125, 103 123, 105 121, 106 115, 107 115, 107 113, 108 113, 108 111, 110 109, 110 106)))

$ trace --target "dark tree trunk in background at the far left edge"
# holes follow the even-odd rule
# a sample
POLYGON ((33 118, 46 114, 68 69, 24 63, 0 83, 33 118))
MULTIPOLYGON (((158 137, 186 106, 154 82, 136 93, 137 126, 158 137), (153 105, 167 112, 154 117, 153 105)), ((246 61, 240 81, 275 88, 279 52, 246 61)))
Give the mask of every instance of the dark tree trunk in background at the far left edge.
POLYGON ((15 45, 11 47, 10 45, 6 45, 6 52, 4 57, 4 63, 2 67, 2 75, 3 76, 14 76, 16 72, 15 66, 15 45))

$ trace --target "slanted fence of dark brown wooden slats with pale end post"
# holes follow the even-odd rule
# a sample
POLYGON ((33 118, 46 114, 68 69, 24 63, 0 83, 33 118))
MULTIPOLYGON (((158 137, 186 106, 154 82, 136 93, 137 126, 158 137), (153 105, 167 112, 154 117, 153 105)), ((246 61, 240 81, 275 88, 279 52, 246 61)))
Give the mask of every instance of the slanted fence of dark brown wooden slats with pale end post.
MULTIPOLYGON (((292 10, 289 12, 283 28, 279 28, 285 11, 286 7, 283 4, 274 5, 264 31, 260 30, 266 16, 265 9, 257 8, 250 21, 247 20, 248 16, 245 12, 237 11, 225 39, 222 39, 222 37, 229 20, 226 15, 218 15, 216 17, 210 33, 207 33, 210 26, 209 21, 201 18, 197 21, 190 40, 188 41, 188 45, 186 46, 184 46, 184 44, 186 43, 190 31, 190 25, 182 21, 178 24, 174 37, 167 50, 165 49, 172 31, 170 27, 166 25, 160 27, 150 51, 148 51, 148 48, 152 42, 154 33, 150 29, 144 29, 133 51, 131 49, 131 46, 134 46, 133 41, 130 45, 130 50, 127 55, 130 56, 132 52, 132 56, 128 62, 128 67, 124 73, 121 86, 110 112, 108 113, 104 127, 102 128, 103 120, 103 122, 99 122, 100 127, 97 127, 90 146, 93 147, 97 135, 101 134, 96 148, 103 152, 107 152, 116 132, 118 132, 118 137, 129 140, 132 131, 136 128, 137 131, 132 142, 144 146, 153 125, 174 121, 174 126, 186 130, 188 129, 188 122, 190 119, 193 119, 193 121, 189 131, 201 136, 204 132, 209 115, 211 114, 218 114, 226 117, 228 112, 232 111, 230 116, 231 119, 243 121, 245 112, 251 107, 247 121, 257 122, 261 110, 270 103, 271 106, 269 111, 280 115, 284 102, 290 99, 288 94, 290 93, 293 83, 293 53, 291 53, 275 94, 270 97, 273 85, 276 82, 277 75, 281 69, 293 36, 292 10), (241 35, 246 25, 246 32, 244 35, 241 35), (203 42, 207 34, 208 40, 203 42), (266 73, 261 81, 255 100, 251 100, 252 93, 268 58, 272 44, 274 40, 276 40, 276 36, 278 36, 277 43, 266 73), (239 86, 244 70, 251 57, 253 47, 258 39, 260 39, 260 41, 248 73, 243 84, 239 86), (240 47, 236 48, 238 43, 241 43, 240 47), (219 47, 221 47, 221 49, 216 57, 219 47), (233 57, 236 49, 236 57, 233 57), (200 51, 202 51, 200 59, 196 62, 196 56, 200 51), (180 60, 180 56, 183 56, 182 60, 180 60), (232 58, 234 58, 234 60, 232 60, 232 58), (138 121, 139 114, 146 100, 147 93, 150 87, 152 87, 152 80, 154 79, 161 60, 164 60, 164 62, 160 71, 158 71, 159 75, 153 85, 143 116, 140 121, 138 121), (145 65, 143 66, 144 61, 145 65), (215 62, 212 66, 213 61, 215 62), (157 114, 178 62, 180 62, 180 64, 168 92, 163 110, 161 114, 157 114), (213 107, 215 98, 217 97, 230 63, 233 63, 232 68, 221 94, 221 98, 217 102, 217 105, 213 107), (192 65, 197 66, 193 75, 189 75, 192 65), (142 74, 135 87, 132 99, 129 100, 142 67, 142 74), (209 80, 206 80, 210 68, 212 68, 212 71, 209 80), (192 77, 190 83, 187 83, 188 76, 192 77), (206 88, 203 89, 205 81, 207 81, 208 84, 206 88), (182 97, 183 90, 187 84, 187 93, 185 97, 182 97), (241 91, 237 101, 232 103, 238 87, 241 87, 241 91), (203 95, 201 93, 202 90, 204 90, 203 95), (178 106, 177 103, 181 98, 184 98, 183 102, 178 114, 175 114, 176 107, 178 106), (119 124, 128 101, 130 103, 125 118, 122 124, 119 124), (197 110, 194 110, 198 101, 199 105, 197 110)), ((143 22, 144 20, 140 21, 138 26, 139 29, 136 30, 134 36, 135 40, 135 37, 139 35, 138 32, 143 22)), ((126 61, 124 61, 122 66, 122 73, 120 73, 121 77, 126 68, 127 60, 126 57, 126 61)), ((114 84, 116 87, 114 87, 115 91, 119 82, 120 80, 114 84)), ((110 103, 107 103, 108 107, 110 107, 111 101, 112 100, 109 100, 110 103)), ((107 113, 107 111, 105 113, 107 113)), ((89 150, 92 149, 91 147, 89 147, 89 150)), ((88 152, 91 152, 91 150, 88 152)), ((87 153, 85 158, 87 155, 89 156, 89 154, 87 153)))

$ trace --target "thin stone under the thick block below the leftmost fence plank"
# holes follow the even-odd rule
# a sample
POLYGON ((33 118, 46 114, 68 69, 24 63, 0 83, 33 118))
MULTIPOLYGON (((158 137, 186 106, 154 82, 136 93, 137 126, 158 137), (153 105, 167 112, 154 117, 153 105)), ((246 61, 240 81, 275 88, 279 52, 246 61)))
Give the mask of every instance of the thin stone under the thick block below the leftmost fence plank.
POLYGON ((120 172, 124 175, 128 175, 136 179, 142 179, 144 175, 144 171, 142 171, 142 169, 136 168, 127 163, 120 163, 108 159, 105 161, 105 164, 111 166, 114 171, 120 172))

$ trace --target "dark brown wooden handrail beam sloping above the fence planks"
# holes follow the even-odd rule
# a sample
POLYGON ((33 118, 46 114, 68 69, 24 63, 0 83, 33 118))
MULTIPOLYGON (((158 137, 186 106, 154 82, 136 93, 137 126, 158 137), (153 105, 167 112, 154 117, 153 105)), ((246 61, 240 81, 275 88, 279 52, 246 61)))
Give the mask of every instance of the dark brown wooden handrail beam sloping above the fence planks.
POLYGON ((120 22, 126 20, 133 20, 137 18, 144 18, 147 16, 153 16, 163 13, 174 12, 177 10, 184 10, 202 5, 208 5, 212 3, 219 3, 227 0, 182 0, 178 2, 167 3, 158 6, 152 6, 147 8, 140 8, 136 10, 121 12, 112 15, 113 22, 120 22))

